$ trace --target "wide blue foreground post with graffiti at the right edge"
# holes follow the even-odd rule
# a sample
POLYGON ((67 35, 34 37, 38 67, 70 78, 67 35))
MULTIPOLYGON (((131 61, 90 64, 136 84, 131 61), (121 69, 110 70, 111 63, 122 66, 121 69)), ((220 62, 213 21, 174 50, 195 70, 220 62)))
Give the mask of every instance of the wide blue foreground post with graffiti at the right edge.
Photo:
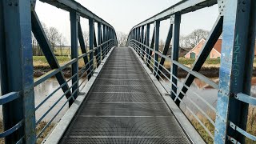
POLYGON ((234 94, 250 94, 254 62, 255 7, 254 0, 226 1, 214 131, 215 143, 226 143, 228 139, 245 143, 245 137, 233 130, 230 122, 246 130, 248 104, 235 99, 234 94))

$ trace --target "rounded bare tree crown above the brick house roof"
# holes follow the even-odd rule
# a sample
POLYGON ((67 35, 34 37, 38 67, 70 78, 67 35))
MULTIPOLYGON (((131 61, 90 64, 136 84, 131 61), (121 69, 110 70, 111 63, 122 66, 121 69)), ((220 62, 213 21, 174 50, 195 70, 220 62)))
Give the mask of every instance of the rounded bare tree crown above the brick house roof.
POLYGON ((186 48, 193 48, 201 41, 202 38, 206 39, 209 34, 207 30, 194 30, 191 34, 187 35, 182 39, 183 45, 186 48))

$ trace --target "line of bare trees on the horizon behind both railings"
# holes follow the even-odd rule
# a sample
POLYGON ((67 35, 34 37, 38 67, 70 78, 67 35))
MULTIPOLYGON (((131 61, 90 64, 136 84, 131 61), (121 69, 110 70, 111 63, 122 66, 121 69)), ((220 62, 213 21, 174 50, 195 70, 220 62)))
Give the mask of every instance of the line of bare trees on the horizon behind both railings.
MULTIPOLYGON (((42 28, 45 31, 46 37, 50 43, 51 49, 56 55, 67 55, 70 54, 70 46, 66 46, 67 41, 65 36, 59 30, 53 26, 47 27, 46 24, 42 23, 42 28), (65 50, 66 49, 66 50, 65 50), (68 53, 67 53, 68 52, 68 53)), ((118 46, 126 46, 128 34, 118 31, 118 46)), ((209 34, 207 30, 194 30, 190 34, 180 36, 180 47, 186 50, 192 49, 200 42, 202 38, 206 39, 209 34)), ((83 31, 83 38, 86 47, 89 47, 89 31, 83 31)), ((165 46, 165 41, 162 39, 159 42, 159 50, 162 51, 165 46)), ((38 46, 38 42, 32 34, 32 48, 34 55, 43 55, 41 48, 38 46)))

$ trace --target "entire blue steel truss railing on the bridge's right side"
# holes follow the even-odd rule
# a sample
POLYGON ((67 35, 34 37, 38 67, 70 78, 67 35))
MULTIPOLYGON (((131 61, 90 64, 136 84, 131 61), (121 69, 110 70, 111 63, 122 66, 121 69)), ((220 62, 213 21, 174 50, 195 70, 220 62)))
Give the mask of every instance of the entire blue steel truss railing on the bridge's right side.
MULTIPOLYGON (((185 110, 182 109, 183 112, 188 117, 193 116, 190 118, 191 122, 194 123, 193 121, 196 120, 202 127, 204 130, 202 137, 208 142, 244 143, 245 140, 250 142, 256 140, 256 137, 246 130, 248 107, 256 106, 256 98, 250 96, 256 29, 255 6, 254 0, 246 2, 238 0, 187 0, 178 2, 130 30, 127 46, 134 48, 150 68, 152 74, 169 91, 174 102, 181 109, 185 106, 185 110), (178 61, 182 14, 216 4, 219 15, 198 54, 198 58, 191 67, 183 65, 178 61), (160 52, 159 27, 160 23, 166 19, 170 19, 170 29, 167 31, 166 43, 160 52), (150 43, 151 24, 154 24, 154 30, 150 43), (222 52, 219 82, 214 82, 214 80, 201 74, 200 70, 221 35, 222 52), (170 47, 171 56, 169 57, 167 52, 170 47), (165 62, 170 63, 170 69, 165 66, 165 62), (186 72, 184 80, 178 78, 179 71, 186 72), (205 82, 218 91, 216 106, 210 103, 209 99, 206 99, 205 94, 200 94, 193 89, 191 85, 195 79, 205 82), (208 113, 205 110, 206 107, 214 114, 208 113)), ((200 127, 197 126, 197 128, 200 127)))

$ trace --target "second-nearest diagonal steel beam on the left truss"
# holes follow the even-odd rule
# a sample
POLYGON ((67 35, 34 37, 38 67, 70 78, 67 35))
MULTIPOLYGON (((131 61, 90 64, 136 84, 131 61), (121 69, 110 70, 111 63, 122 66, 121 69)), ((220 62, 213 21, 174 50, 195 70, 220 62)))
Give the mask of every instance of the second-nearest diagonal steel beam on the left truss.
MULTIPOLYGON (((81 48, 82 54, 86 54, 87 53, 86 44, 85 44, 85 41, 84 41, 84 38, 83 38, 83 35, 82 35, 82 27, 81 27, 80 22, 78 22, 78 40, 79 40, 79 43, 80 43, 80 48, 81 48)), ((90 65, 89 64, 87 65, 87 63, 89 62, 87 55, 85 57, 83 57, 83 61, 85 62, 85 65, 86 65, 87 74, 89 74, 88 79, 90 79, 90 77, 91 77, 91 75, 90 75, 90 65)))

